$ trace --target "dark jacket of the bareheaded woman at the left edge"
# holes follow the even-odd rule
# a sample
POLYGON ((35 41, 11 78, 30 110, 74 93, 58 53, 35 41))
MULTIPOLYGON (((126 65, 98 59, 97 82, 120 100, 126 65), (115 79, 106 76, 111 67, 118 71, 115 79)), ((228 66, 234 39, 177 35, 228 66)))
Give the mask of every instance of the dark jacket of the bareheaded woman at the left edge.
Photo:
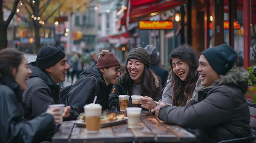
POLYGON ((30 121, 22 119, 19 88, 11 79, 0 84, 0 143, 38 143, 54 126, 51 114, 43 113, 30 121))

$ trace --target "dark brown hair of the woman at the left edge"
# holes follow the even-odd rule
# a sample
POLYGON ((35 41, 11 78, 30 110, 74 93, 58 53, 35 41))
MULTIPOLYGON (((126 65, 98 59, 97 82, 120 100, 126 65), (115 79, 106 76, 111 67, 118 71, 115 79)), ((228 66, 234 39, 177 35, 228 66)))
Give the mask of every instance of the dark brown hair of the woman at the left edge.
POLYGON ((6 48, 0 51, 0 84, 5 77, 14 79, 11 71, 15 68, 17 72, 23 57, 23 53, 15 49, 6 48))

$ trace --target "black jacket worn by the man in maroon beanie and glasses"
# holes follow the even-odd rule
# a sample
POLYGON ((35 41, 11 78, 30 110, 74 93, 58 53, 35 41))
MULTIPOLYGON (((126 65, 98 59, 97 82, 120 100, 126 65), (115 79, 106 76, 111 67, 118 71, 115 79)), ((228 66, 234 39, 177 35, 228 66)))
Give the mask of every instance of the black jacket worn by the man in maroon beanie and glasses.
POLYGON ((76 106, 79 112, 84 112, 83 106, 92 103, 97 94, 96 103, 102 106, 102 110, 109 109, 108 95, 112 87, 112 84, 106 86, 103 75, 96 65, 89 66, 70 88, 65 104, 76 106))

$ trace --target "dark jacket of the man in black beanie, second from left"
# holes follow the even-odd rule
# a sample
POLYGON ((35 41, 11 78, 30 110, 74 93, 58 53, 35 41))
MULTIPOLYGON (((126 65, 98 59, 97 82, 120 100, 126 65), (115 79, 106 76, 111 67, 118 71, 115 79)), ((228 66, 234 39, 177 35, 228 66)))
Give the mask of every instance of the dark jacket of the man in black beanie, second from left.
MULTIPOLYGON (((44 113, 51 104, 60 104, 60 87, 56 84, 49 75, 40 70, 36 62, 29 63, 29 68, 32 74, 26 80, 27 89, 22 97, 25 103, 25 118, 33 119, 44 113)), ((74 120, 79 116, 79 111, 76 107, 71 107, 70 116, 63 118, 64 121, 74 120)))

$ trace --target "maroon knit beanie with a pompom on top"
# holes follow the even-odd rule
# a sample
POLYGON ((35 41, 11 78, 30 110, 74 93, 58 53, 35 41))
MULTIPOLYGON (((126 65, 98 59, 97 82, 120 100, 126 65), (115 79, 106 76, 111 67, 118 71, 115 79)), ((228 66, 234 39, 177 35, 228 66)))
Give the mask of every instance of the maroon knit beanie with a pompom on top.
POLYGON ((120 63, 113 53, 109 53, 108 50, 102 50, 101 53, 99 53, 96 67, 100 69, 110 66, 120 66, 120 63))

